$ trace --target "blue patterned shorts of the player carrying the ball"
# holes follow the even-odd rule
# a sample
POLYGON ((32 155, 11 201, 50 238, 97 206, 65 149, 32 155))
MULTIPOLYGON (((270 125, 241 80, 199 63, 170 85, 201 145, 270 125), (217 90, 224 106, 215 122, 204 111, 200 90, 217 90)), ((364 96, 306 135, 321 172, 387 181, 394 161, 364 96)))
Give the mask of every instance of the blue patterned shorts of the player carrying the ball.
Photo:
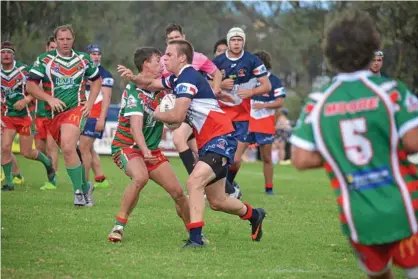
POLYGON ((227 165, 230 165, 234 162, 237 144, 237 140, 232 134, 215 137, 199 149, 199 158, 202 158, 208 152, 213 152, 224 156, 227 159, 227 165))

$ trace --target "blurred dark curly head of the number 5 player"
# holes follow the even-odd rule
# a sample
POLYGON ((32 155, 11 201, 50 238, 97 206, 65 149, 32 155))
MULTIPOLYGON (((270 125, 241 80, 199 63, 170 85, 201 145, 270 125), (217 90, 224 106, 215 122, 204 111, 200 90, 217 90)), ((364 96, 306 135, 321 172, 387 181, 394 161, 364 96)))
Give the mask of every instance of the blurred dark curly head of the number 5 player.
POLYGON ((323 51, 334 70, 352 73, 368 69, 379 46, 380 36, 369 14, 347 10, 336 14, 329 25, 323 51))

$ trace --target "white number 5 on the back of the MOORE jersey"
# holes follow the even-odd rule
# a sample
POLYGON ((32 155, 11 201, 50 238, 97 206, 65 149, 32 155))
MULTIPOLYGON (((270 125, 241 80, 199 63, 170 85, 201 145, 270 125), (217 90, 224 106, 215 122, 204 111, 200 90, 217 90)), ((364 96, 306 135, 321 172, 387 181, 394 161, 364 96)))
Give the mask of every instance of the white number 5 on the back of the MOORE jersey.
POLYGON ((373 157, 371 142, 364 137, 367 132, 365 118, 340 121, 340 131, 347 159, 357 166, 366 165, 373 157))

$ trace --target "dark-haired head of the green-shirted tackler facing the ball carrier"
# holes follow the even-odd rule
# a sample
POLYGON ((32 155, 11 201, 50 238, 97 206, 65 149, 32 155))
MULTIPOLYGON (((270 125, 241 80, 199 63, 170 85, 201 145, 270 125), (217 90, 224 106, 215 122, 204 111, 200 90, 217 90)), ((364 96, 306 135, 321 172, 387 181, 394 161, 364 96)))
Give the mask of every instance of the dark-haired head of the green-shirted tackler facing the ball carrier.
POLYGON ((161 52, 155 47, 141 47, 135 51, 134 62, 138 72, 153 78, 161 76, 161 52))

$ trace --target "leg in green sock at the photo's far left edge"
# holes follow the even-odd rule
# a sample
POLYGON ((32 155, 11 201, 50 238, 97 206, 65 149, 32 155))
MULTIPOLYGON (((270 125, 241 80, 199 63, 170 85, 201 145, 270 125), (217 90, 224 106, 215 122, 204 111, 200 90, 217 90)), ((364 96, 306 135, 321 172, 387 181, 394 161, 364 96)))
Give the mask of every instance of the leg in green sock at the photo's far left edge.
MULTIPOLYGON (((4 121, 2 119, 2 121, 4 121)), ((3 122, 4 123, 4 122, 3 122)), ((6 124, 7 125, 7 124, 6 124)), ((4 171, 4 185, 2 191, 14 190, 12 175, 12 145, 16 136, 16 130, 10 128, 2 128, 1 134, 1 166, 4 171)))

